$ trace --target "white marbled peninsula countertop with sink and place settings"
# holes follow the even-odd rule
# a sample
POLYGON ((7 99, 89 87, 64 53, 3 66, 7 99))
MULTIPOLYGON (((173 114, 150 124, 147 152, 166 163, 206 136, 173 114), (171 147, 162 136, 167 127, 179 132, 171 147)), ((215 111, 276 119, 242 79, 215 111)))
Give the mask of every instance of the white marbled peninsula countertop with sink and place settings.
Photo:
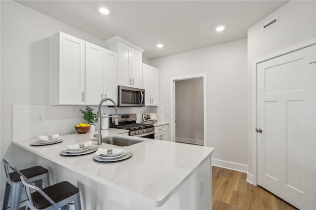
MULTIPOLYGON (((121 133, 126 133, 126 130, 111 128, 102 131, 102 137, 119 136, 121 133)), ((102 184, 144 199, 153 207, 163 205, 214 150, 212 147, 128 136, 127 138, 144 141, 124 147, 132 151, 131 158, 107 164, 94 161, 94 152, 71 158, 59 155, 69 144, 95 139, 93 133, 60 137, 63 142, 45 146, 30 146, 37 139, 17 140, 13 143, 102 184)), ((96 141, 93 143, 96 144, 96 141)), ((102 143, 98 147, 107 148, 113 145, 102 143)))

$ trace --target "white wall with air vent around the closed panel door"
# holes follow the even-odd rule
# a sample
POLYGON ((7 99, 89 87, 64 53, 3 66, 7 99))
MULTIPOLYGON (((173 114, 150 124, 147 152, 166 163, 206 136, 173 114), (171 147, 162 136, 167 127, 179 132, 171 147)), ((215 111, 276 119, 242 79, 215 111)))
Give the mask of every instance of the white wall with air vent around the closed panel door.
POLYGON ((252 166, 252 69, 253 60, 316 37, 316 1, 292 0, 248 29, 248 167, 252 166), (278 16, 278 23, 265 31, 262 25, 278 16))

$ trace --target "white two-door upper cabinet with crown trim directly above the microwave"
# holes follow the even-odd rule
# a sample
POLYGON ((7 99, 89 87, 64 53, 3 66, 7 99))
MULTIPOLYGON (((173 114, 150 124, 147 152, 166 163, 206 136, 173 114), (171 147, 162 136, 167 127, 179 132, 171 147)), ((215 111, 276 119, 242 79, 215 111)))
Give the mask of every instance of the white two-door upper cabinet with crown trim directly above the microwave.
POLYGON ((143 53, 118 41, 108 48, 118 53, 118 85, 143 88, 143 53))

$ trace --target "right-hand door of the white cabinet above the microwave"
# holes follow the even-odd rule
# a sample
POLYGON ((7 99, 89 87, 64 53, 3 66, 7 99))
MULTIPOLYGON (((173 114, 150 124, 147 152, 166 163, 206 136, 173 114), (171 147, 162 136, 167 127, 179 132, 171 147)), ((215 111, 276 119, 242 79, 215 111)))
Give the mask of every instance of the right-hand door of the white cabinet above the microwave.
POLYGON ((136 50, 130 50, 131 61, 131 86, 134 88, 143 88, 143 73, 142 73, 142 53, 136 50))

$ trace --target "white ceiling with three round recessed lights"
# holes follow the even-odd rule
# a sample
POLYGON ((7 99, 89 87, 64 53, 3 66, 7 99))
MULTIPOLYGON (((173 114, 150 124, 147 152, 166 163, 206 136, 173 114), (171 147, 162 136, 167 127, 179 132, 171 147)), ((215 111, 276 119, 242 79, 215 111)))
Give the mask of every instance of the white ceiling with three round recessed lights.
POLYGON ((158 58, 245 38, 247 29, 288 0, 19 0, 17 2, 108 39, 118 35, 158 58), (100 7, 109 15, 101 15, 100 7), (218 25, 226 30, 216 32, 218 25), (159 49, 156 44, 164 47, 159 49))

